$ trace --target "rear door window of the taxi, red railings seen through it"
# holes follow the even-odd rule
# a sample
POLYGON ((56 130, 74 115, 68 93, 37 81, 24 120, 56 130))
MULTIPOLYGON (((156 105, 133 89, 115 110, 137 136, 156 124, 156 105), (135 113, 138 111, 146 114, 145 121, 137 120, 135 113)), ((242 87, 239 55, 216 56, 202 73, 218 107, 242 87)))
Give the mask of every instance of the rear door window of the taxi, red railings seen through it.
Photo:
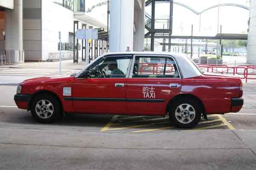
POLYGON ((136 57, 133 78, 179 78, 176 64, 172 58, 136 57))

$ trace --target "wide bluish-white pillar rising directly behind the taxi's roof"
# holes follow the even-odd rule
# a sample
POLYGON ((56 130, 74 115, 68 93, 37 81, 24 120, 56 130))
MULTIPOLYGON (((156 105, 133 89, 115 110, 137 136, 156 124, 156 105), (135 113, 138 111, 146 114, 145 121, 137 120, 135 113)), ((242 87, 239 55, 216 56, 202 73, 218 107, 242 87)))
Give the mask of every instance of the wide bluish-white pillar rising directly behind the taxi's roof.
POLYGON ((109 51, 133 51, 134 0, 110 1, 109 51))

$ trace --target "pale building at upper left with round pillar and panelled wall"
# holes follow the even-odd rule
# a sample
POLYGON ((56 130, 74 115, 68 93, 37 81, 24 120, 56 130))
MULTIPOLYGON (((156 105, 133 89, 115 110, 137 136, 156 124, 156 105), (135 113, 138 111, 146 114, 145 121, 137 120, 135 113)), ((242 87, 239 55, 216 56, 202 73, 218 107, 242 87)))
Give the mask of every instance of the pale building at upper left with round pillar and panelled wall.
POLYGON ((73 58, 74 21, 106 28, 85 14, 85 0, 1 0, 0 54, 13 63, 48 60, 58 53, 61 32, 63 54, 73 58))

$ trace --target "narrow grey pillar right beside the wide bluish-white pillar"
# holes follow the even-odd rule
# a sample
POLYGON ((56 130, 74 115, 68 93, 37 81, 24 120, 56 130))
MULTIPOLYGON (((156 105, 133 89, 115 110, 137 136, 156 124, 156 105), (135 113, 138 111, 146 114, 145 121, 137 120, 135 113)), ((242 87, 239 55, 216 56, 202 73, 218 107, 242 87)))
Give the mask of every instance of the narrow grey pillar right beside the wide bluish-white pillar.
POLYGON ((144 50, 144 34, 145 34, 145 0, 135 0, 134 2, 134 51, 144 50))

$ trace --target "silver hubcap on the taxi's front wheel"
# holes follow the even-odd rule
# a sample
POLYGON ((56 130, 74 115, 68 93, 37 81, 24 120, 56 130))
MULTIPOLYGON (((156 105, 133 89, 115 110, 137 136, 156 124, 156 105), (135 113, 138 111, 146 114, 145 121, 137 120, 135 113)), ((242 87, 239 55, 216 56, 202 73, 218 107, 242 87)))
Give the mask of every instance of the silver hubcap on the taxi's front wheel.
POLYGON ((51 117, 53 111, 53 105, 49 100, 42 99, 35 105, 35 113, 42 119, 51 117))

